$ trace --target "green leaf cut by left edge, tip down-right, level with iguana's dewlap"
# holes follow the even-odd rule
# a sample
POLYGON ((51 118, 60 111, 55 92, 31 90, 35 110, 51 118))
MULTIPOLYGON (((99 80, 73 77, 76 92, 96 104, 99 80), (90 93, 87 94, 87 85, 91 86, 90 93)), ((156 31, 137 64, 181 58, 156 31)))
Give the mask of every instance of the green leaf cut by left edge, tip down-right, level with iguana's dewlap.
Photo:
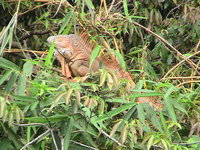
POLYGON ((20 71, 20 67, 18 67, 16 64, 14 64, 13 62, 0 57, 0 67, 1 68, 8 68, 8 69, 12 69, 15 71, 20 71))

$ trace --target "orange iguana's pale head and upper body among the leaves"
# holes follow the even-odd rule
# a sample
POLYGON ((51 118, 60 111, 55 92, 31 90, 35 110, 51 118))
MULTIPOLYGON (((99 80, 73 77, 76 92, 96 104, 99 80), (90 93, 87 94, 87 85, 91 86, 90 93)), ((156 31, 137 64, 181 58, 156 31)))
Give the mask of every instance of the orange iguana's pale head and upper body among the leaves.
POLYGON ((97 57, 89 68, 90 55, 93 46, 88 42, 84 35, 57 35, 50 36, 47 39, 48 43, 55 43, 57 57, 61 63, 62 74, 66 77, 85 76, 90 71, 96 72, 101 64, 109 72, 116 74, 119 78, 127 78, 134 84, 130 74, 120 68, 116 59, 108 58, 108 55, 97 57))

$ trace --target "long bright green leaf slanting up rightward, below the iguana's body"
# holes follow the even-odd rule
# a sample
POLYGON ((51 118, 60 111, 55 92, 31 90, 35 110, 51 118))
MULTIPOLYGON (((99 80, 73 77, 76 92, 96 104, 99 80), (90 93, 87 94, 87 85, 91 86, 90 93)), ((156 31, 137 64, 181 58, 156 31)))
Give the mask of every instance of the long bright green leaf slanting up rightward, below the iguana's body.
POLYGON ((131 107, 133 107, 133 106, 135 106, 135 102, 129 103, 129 104, 125 104, 125 105, 123 105, 121 107, 118 107, 118 108, 116 108, 114 110, 111 110, 107 114, 104 114, 101 117, 95 119, 94 123, 109 119, 109 118, 111 118, 111 117, 113 117, 113 116, 115 116, 115 115, 117 115, 117 114, 119 114, 119 113, 121 113, 121 112, 123 112, 123 111, 125 111, 125 110, 127 110, 127 109, 129 109, 131 107))

